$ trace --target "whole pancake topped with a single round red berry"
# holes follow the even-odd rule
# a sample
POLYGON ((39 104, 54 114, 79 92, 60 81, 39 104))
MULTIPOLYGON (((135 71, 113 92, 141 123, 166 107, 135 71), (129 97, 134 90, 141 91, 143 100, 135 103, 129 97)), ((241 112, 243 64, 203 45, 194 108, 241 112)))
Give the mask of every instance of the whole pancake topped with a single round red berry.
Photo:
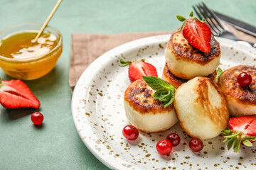
POLYGON ((256 115, 256 68, 238 65, 227 69, 221 74, 218 85, 223 91, 230 115, 256 115), (247 72, 252 77, 249 86, 238 84, 238 75, 247 72))

